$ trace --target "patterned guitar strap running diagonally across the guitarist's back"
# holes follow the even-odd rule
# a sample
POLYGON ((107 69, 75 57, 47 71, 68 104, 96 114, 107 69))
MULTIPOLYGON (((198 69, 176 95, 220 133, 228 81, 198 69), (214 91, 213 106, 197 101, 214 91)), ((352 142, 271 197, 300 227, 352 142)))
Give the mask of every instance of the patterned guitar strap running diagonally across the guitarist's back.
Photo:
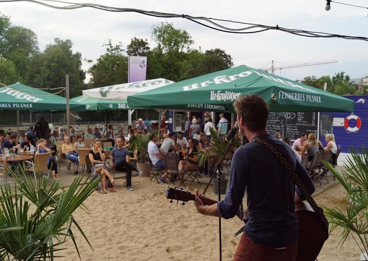
POLYGON ((294 168, 292 167, 291 163, 285 158, 285 156, 277 149, 275 148, 269 141, 262 139, 262 138, 254 138, 251 140, 251 142, 258 142, 265 147, 267 147, 279 160, 279 162, 286 168, 286 170, 289 172, 291 178, 294 180, 296 186, 301 190, 303 195, 306 197, 308 203, 313 208, 314 212, 318 215, 320 220, 324 223, 326 226, 327 231, 329 231, 329 223, 327 218, 325 217, 323 213, 323 209, 317 205, 317 203, 314 201, 312 196, 309 194, 308 190, 304 186, 302 180, 299 178, 299 176, 296 174, 294 168))

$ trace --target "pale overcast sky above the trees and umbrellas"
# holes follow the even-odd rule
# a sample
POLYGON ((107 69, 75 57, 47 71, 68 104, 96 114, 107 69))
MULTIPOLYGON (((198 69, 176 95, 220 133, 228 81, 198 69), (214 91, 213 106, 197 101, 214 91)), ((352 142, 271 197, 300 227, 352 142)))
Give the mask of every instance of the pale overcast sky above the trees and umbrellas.
MULTIPOLYGON (((263 0, 263 1, 153 1, 153 0, 85 0, 76 3, 96 3, 106 6, 136 8, 158 12, 189 14, 212 18, 231 19, 250 23, 319 31, 334 34, 368 37, 367 9, 331 3, 325 11, 325 0, 263 0)), ((368 7, 367 0, 344 2, 368 7)), ((60 5, 52 2, 48 4, 60 5)), ((56 10, 40 5, 18 2, 0 3, 0 12, 11 17, 15 25, 33 30, 40 49, 53 39, 71 39, 74 51, 83 59, 97 58, 105 53, 102 47, 107 39, 122 42, 124 47, 132 37, 147 38, 150 47, 151 28, 160 21, 172 22, 175 28, 185 29, 194 40, 193 48, 202 51, 221 48, 231 55, 234 64, 254 68, 275 67, 337 60, 338 63, 284 69, 275 74, 292 80, 305 76, 333 75, 347 72, 351 78, 368 75, 368 42, 344 39, 307 38, 280 31, 267 31, 250 35, 218 32, 182 18, 157 18, 138 13, 113 13, 91 8, 56 10)), ((90 64, 83 63, 87 70, 90 64)))

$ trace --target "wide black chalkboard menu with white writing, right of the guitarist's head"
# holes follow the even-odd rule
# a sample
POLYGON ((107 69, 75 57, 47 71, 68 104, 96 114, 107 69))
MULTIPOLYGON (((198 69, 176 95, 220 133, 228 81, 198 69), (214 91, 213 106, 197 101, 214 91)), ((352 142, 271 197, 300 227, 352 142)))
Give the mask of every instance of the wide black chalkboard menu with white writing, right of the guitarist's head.
POLYGON ((316 112, 271 112, 267 121, 268 132, 282 138, 296 140, 301 133, 317 133, 316 112))

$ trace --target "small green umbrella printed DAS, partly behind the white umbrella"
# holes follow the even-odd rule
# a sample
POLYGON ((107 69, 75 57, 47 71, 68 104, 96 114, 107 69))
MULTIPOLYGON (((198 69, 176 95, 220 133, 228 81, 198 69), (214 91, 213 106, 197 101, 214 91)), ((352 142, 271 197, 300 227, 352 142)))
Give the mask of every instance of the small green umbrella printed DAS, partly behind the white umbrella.
POLYGON ((95 99, 78 96, 73 99, 85 106, 86 111, 129 110, 126 100, 95 99))

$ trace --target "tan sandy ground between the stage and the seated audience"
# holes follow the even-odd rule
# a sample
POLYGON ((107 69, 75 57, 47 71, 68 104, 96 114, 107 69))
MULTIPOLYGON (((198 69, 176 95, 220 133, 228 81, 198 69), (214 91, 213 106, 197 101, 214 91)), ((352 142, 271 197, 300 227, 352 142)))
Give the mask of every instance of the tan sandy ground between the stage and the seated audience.
MULTIPOLYGON (((133 177, 134 191, 125 189, 124 179, 117 179, 116 193, 94 193, 85 202, 90 214, 77 210, 74 217, 82 227, 94 250, 75 230, 81 259, 91 260, 218 260, 218 219, 196 212, 193 201, 185 205, 169 203, 164 190, 167 186, 133 177)), ((204 185, 187 186, 203 191, 204 185)), ((212 186, 206 193, 216 199, 212 186)), ((315 197, 317 203, 335 206, 344 196, 343 189, 332 186, 315 197)), ((240 236, 233 237, 242 226, 237 218, 222 220, 222 259, 231 260, 240 236)), ((359 260, 359 249, 353 241, 341 249, 333 233, 325 243, 319 261, 359 260)), ((69 241, 65 257, 59 260, 78 260, 69 241)))

